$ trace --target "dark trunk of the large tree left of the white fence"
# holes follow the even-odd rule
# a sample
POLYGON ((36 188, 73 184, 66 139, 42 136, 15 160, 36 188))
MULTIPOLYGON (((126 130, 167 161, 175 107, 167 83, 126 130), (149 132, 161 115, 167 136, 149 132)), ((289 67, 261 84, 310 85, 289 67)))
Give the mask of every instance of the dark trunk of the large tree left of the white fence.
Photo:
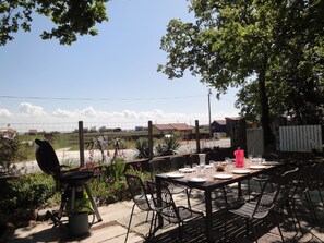
POLYGON ((275 146, 275 136, 271 130, 271 119, 269 119, 269 106, 268 98, 265 90, 265 70, 259 73, 259 92, 261 101, 261 124, 264 134, 264 146, 265 149, 273 148, 275 146))

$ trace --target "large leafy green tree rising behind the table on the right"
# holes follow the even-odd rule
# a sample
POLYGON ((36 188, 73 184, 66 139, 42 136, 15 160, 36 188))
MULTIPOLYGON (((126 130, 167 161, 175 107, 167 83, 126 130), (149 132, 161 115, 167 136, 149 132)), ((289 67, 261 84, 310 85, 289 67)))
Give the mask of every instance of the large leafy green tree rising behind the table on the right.
POLYGON ((260 119, 266 145, 272 114, 323 112, 323 0, 191 0, 189 8, 195 22, 169 22, 158 71, 169 78, 190 71, 218 97, 241 87, 237 106, 260 119))

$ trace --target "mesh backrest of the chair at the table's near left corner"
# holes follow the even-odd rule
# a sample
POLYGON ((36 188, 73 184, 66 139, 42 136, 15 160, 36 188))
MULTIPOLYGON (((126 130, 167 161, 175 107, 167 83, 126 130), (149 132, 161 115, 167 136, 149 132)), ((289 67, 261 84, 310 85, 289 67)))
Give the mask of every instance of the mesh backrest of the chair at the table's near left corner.
POLYGON ((161 217, 171 223, 178 223, 181 221, 181 218, 179 216, 179 211, 177 209, 177 206, 175 204, 175 201, 172 198, 172 194, 170 193, 168 186, 165 184, 160 184, 160 198, 155 198, 153 195, 156 192, 156 183, 147 181, 147 189, 153 197, 153 203, 156 208, 159 209, 159 214, 161 217), (160 199, 159 202, 157 202, 160 199))

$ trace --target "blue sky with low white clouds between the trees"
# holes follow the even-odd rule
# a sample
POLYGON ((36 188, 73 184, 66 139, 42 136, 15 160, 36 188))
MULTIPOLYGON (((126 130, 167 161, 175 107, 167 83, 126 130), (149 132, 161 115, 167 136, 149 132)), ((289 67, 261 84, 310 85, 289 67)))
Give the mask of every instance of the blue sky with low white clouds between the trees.
MULTIPOLYGON (((159 49, 171 19, 193 20, 185 0, 112 0, 109 21, 95 37, 72 46, 41 40, 50 20, 34 16, 32 32, 20 32, 0 47, 0 126, 25 123, 105 123, 131 129, 153 123, 208 123, 208 89, 199 77, 168 80, 157 72, 167 53, 159 49)), ((237 117, 236 89, 216 99, 211 119, 237 117)), ((0 127, 1 129, 1 127, 0 127)))

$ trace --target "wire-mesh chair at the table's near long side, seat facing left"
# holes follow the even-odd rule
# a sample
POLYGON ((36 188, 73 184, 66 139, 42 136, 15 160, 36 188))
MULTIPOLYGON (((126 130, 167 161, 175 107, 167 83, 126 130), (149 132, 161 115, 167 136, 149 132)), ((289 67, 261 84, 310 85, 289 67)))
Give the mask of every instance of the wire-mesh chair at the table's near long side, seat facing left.
MULTIPOLYGON (((228 210, 228 212, 240 216, 247 220, 247 235, 249 234, 249 224, 251 223, 254 239, 257 242, 257 236, 256 236, 256 232, 252 220, 264 219, 268 215, 273 215, 276 226, 279 230, 281 240, 283 242, 285 241, 279 223, 277 221, 277 218, 273 209, 275 208, 276 203, 278 203, 277 199, 279 198, 279 194, 283 193, 283 195, 286 195, 286 190, 290 191, 290 184, 295 175, 296 175, 296 170, 292 170, 292 171, 287 171, 281 177, 269 178, 269 180, 267 180, 263 184, 261 194, 259 195, 256 202, 248 202, 248 203, 244 203, 238 209, 228 210)), ((226 227, 227 227, 227 217, 225 217, 225 234, 226 234, 226 227)))

